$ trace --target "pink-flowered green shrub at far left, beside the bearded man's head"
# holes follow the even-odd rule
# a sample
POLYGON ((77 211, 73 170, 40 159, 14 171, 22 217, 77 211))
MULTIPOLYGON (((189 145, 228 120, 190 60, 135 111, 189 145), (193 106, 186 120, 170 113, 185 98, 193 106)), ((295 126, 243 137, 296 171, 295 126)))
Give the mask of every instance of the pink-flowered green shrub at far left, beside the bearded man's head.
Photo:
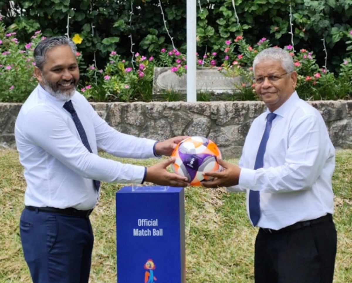
POLYGON ((32 42, 21 44, 16 32, 7 31, 0 18, 0 102, 23 102, 37 85, 33 49, 41 38, 36 31, 32 42))

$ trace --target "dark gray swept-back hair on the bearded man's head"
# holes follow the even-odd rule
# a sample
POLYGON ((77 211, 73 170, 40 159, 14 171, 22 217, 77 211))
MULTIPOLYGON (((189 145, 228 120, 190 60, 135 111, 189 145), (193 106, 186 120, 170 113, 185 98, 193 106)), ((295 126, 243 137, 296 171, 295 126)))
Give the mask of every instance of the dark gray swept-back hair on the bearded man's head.
POLYGON ((43 71, 43 65, 46 61, 46 52, 54 47, 61 45, 68 45, 71 48, 73 54, 76 54, 76 44, 66 36, 48 37, 37 44, 36 48, 34 48, 33 55, 34 62, 40 71, 43 71))

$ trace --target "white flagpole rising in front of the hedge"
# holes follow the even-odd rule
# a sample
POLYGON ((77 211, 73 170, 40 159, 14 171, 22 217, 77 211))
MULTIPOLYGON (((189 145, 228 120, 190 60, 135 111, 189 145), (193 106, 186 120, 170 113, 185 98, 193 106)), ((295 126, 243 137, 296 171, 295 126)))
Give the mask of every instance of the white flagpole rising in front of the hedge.
POLYGON ((187 102, 197 101, 196 88, 196 0, 187 0, 187 102))

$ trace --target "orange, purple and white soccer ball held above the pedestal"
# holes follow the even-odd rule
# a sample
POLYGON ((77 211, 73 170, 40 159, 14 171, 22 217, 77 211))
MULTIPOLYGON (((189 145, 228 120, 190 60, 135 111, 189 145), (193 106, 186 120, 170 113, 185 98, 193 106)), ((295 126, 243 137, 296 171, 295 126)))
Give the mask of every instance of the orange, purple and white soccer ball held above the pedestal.
POLYGON ((186 176, 192 186, 201 186, 202 181, 211 180, 213 177, 204 176, 204 171, 220 171, 221 166, 216 158, 221 158, 221 153, 216 144, 204 137, 189 137, 178 143, 171 156, 176 157, 172 170, 186 176))

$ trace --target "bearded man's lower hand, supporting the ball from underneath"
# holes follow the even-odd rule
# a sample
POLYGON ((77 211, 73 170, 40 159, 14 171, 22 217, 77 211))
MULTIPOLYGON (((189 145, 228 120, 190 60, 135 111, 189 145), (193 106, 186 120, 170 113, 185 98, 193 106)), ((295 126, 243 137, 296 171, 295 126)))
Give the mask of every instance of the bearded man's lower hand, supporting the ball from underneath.
POLYGON ((161 186, 186 187, 189 186, 187 177, 170 173, 166 168, 175 161, 174 157, 159 162, 147 168, 146 182, 152 182, 161 186))

